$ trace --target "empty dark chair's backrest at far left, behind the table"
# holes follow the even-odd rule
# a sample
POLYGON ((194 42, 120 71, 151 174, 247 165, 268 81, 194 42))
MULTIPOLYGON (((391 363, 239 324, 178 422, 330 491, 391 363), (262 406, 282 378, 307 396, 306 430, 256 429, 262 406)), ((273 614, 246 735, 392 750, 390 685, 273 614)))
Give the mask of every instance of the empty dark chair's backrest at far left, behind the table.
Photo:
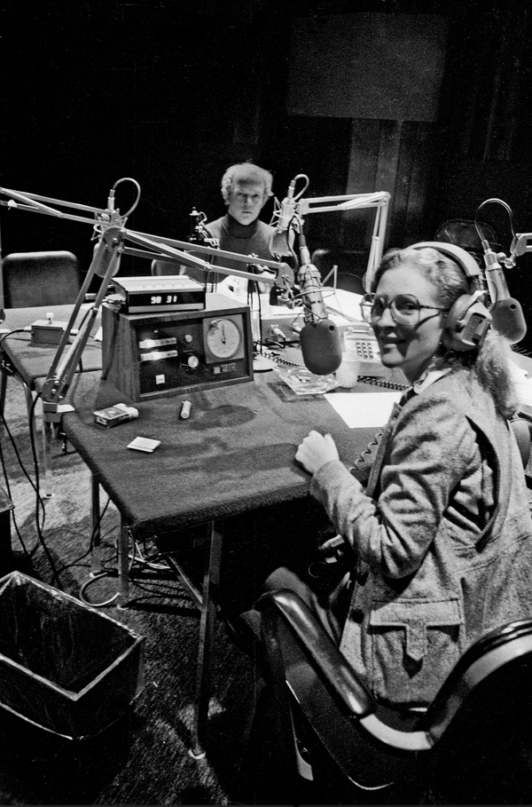
POLYGON ((4 308, 74 303, 82 288, 72 252, 12 252, 2 261, 4 308))

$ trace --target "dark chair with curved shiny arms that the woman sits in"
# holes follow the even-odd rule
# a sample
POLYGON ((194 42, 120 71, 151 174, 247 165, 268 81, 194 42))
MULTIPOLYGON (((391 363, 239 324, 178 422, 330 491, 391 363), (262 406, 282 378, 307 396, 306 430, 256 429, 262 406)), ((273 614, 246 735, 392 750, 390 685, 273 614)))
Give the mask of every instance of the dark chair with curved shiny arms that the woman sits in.
POLYGON ((530 803, 532 619, 490 631, 408 711, 373 699, 293 591, 255 608, 279 775, 311 782, 312 803, 530 803))

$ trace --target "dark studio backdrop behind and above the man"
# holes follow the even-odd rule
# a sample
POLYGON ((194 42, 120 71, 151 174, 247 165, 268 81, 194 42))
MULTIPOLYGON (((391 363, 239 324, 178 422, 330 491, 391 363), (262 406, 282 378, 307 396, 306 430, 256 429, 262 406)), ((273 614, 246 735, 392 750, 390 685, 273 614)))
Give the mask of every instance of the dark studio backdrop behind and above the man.
MULTIPOLYGON (((532 230, 527 0, 20 0, 0 7, 4 187, 105 207, 116 180, 132 177, 142 194, 128 226, 184 239, 192 206, 207 218, 223 214, 223 170, 252 159, 273 172, 278 198, 299 172, 309 175, 309 197, 389 191, 387 246, 431 239, 446 219, 473 218, 489 197, 510 205, 517 232, 532 230), (434 120, 394 117, 402 108, 393 102, 397 86, 415 90, 413 46, 395 54, 389 117, 367 105, 357 116, 349 103, 344 115, 341 97, 334 116, 309 115, 308 98, 305 114, 289 114, 301 19, 319 40, 320 18, 356 13, 443 19, 434 120)), ((333 43, 324 46, 326 69, 335 52, 333 43)), ((419 82, 425 69, 420 63, 419 82)), ((360 75, 360 87, 371 99, 371 75, 360 75)), ((121 211, 133 201, 133 186, 121 185, 121 211)), ((271 210, 269 202, 262 218, 271 210)), ((82 268, 90 265, 89 225, 0 213, 4 255, 71 249, 82 268)), ((309 246, 347 251, 356 263, 369 249, 370 218, 367 211, 309 217, 309 246)), ((505 211, 490 205, 481 218, 507 252, 505 211)), ((522 257, 508 280, 530 318, 528 272, 522 257)), ((129 257, 121 273, 149 267, 129 257)))

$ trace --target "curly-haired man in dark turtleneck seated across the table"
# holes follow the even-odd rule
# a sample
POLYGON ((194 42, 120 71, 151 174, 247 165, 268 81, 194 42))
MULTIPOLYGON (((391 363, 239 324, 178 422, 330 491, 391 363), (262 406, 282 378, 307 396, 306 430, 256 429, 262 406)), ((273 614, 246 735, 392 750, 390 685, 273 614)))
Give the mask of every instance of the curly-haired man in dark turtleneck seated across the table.
MULTIPOLYGON (((225 171, 222 195, 228 207, 227 213, 206 225, 208 232, 220 242, 220 249, 275 260, 269 246, 274 227, 259 219, 262 208, 272 195, 272 179, 270 171, 253 162, 239 162, 225 171)), ((242 261, 220 258, 213 263, 246 271, 246 264, 242 261)), ((222 281, 225 276, 218 274, 216 280, 222 281)))

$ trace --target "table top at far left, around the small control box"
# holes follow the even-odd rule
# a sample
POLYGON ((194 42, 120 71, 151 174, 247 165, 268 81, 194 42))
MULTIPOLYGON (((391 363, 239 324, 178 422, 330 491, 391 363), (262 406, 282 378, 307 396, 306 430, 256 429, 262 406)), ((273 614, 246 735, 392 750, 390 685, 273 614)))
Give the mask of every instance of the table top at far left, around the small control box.
MULTIPOLYGON (((73 305, 47 305, 6 310, 2 328, 9 328, 12 333, 3 337, 2 350, 30 389, 35 389, 35 380, 37 378, 47 376, 58 346, 57 344, 34 344, 31 341, 31 332, 29 330, 21 332, 20 329, 31 328, 35 320, 45 320, 46 314, 49 312, 54 314, 55 322, 67 322, 73 309, 73 305)), ((79 327, 85 313, 87 313, 87 307, 82 308, 78 313, 74 322, 75 328, 79 327)), ((98 313, 92 328, 93 334, 98 330, 99 326, 100 317, 98 313)), ((91 335, 82 353, 81 369, 86 372, 98 370, 101 367, 101 343, 95 342, 91 335)))

